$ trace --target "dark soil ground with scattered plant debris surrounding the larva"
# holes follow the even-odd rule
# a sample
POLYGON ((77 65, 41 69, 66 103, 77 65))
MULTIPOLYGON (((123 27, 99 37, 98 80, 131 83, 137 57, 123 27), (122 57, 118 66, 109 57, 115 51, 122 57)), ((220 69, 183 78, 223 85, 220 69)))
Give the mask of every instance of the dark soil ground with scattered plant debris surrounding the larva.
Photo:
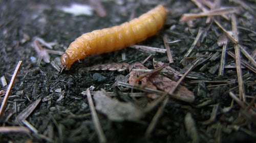
MULTIPOLYGON (((3 80, 9 84, 18 61, 22 61, 22 65, 0 118, 0 142, 255 142, 255 1, 220 1, 215 8, 214 4, 219 1, 203 1, 210 4, 202 2, 207 10, 212 6, 211 10, 223 8, 229 13, 180 21, 185 13, 202 12, 202 7, 195 2, 199 1, 104 0, 101 4, 106 16, 97 14, 95 9, 98 8, 94 8, 91 11, 93 13, 89 9, 87 15, 75 16, 62 11, 63 8, 72 4, 92 6, 92 2, 1 0, 1 103, 8 88, 3 80), (70 70, 61 71, 60 56, 75 38, 83 33, 129 21, 159 4, 167 9, 163 27, 155 36, 138 45, 165 49, 165 37, 169 42, 167 45, 173 63, 169 63, 166 52, 127 47, 111 53, 87 56, 75 62, 70 70), (237 27, 233 26, 232 20, 237 22, 237 27), (226 34, 216 21, 227 30, 226 34), (232 37, 236 37, 232 31, 234 29, 238 30, 238 43, 236 38, 232 41, 227 36, 231 33, 232 37), (48 44, 52 45, 52 49, 49 49, 48 44), (223 75, 219 75, 224 46, 225 68, 223 75), (194 49, 185 56, 191 47, 194 49), (234 49, 241 51, 241 61, 249 66, 240 66, 241 69, 236 66, 236 60, 230 56, 232 53, 238 54, 234 49), (254 63, 248 60, 243 49, 254 59, 254 63), (113 63, 133 65, 141 63, 150 54, 150 59, 143 63, 145 67, 154 69, 154 61, 163 62, 180 75, 199 61, 180 85, 193 92, 194 101, 158 93, 157 99, 166 98, 151 110, 143 112, 156 103, 157 99, 150 98, 148 92, 141 90, 147 88, 146 85, 131 89, 117 84, 118 81, 129 82, 129 69, 88 71, 86 68, 95 65, 104 67, 102 64, 113 63), (238 74, 238 71, 242 73, 238 74), (95 125, 88 94, 84 94, 88 88, 94 91, 92 96, 100 127, 95 125), (95 95, 101 89, 112 95, 111 98, 99 97, 103 100, 101 105, 104 105, 99 109, 99 99, 95 95), (135 94, 139 96, 133 96, 135 94), (112 106, 106 101, 116 104, 112 106), (126 105, 129 109, 121 111, 125 112, 125 116, 118 114, 118 109, 122 110, 126 105), (117 110, 116 116, 111 112, 113 108, 117 110), (138 113, 140 111, 141 114, 138 113), (110 115, 112 113, 114 115, 110 115), (140 118, 135 117, 136 113, 140 118), (106 141, 100 140, 99 128, 106 141)), ((78 8, 76 11, 79 11, 78 8)), ((173 77, 171 73, 158 73, 168 78, 173 77)), ((152 79, 152 75, 146 78, 152 79)), ((162 83, 160 81, 159 84, 162 83)), ((157 89, 163 91, 159 87, 157 89)), ((181 96, 183 94, 181 92, 181 96)))

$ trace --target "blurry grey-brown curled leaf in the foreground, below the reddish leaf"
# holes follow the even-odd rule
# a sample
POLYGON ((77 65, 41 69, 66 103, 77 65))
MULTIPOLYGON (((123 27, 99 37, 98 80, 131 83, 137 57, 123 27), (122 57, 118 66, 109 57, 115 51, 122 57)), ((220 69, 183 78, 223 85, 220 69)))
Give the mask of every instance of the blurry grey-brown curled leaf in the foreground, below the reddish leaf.
POLYGON ((116 99, 112 99, 106 96, 106 92, 101 90, 94 94, 96 110, 102 112, 110 120, 122 122, 126 121, 138 121, 144 117, 144 112, 141 108, 132 103, 120 102, 116 99))

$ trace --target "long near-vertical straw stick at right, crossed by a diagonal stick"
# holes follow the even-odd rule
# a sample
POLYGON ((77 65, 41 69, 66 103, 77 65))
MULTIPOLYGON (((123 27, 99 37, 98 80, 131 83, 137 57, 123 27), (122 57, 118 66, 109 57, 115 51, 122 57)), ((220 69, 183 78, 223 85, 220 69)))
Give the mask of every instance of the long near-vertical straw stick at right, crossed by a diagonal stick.
MULTIPOLYGON (((233 37, 238 41, 238 28, 237 28, 237 18, 234 14, 231 15, 231 23, 232 23, 232 32, 233 37)), ((237 66, 237 75, 238 75, 238 87, 239 87, 239 98, 246 100, 245 92, 244 92, 244 83, 243 83, 243 74, 241 70, 241 55, 240 55, 240 48, 238 44, 234 44, 234 53, 236 55, 236 66, 237 66)))

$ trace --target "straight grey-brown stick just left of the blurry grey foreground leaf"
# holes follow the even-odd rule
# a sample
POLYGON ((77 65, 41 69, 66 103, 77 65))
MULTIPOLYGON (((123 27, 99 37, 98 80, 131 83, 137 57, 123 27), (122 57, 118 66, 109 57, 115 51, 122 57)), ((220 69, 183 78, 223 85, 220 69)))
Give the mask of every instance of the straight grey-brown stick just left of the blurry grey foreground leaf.
POLYGON ((87 99, 88 99, 89 106, 90 106, 91 113, 92 113, 93 124, 95 126, 96 133, 98 134, 99 142, 106 142, 106 137, 105 137, 104 132, 100 126, 99 118, 97 116, 97 113, 96 113, 96 110, 95 110, 95 107, 93 104, 93 99, 92 99, 92 95, 90 93, 90 89, 88 88, 86 90, 86 92, 87 92, 87 99))

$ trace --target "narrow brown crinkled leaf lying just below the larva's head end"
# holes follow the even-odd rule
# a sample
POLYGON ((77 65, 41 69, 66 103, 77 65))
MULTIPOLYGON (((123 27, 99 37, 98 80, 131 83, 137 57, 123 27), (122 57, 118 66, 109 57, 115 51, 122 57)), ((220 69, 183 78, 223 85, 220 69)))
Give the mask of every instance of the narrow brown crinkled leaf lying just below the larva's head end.
POLYGON ((99 70, 109 70, 109 71, 124 71, 129 68, 129 64, 127 63, 111 63, 111 64, 100 64, 92 67, 86 67, 81 69, 80 71, 99 71, 99 70))

